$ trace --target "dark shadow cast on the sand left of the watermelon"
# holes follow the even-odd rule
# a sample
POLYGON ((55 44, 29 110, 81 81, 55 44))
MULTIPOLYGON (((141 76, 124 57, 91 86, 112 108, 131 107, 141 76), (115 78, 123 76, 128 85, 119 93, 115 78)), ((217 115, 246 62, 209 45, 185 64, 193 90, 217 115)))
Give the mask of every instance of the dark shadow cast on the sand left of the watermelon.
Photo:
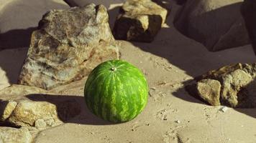
POLYGON ((114 124, 106 122, 92 114, 86 106, 84 97, 51 94, 29 94, 26 97, 35 102, 50 102, 55 104, 58 117, 64 123, 91 125, 114 124))

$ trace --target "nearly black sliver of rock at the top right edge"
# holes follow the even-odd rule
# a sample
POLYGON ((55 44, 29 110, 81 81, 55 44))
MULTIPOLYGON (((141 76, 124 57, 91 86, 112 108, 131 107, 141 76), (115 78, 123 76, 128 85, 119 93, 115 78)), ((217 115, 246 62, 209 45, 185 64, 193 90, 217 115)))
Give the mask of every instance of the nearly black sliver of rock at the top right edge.
POLYGON ((241 12, 242 16, 244 17, 245 25, 247 27, 247 31, 249 33, 252 47, 256 54, 256 1, 254 0, 244 0, 241 12))

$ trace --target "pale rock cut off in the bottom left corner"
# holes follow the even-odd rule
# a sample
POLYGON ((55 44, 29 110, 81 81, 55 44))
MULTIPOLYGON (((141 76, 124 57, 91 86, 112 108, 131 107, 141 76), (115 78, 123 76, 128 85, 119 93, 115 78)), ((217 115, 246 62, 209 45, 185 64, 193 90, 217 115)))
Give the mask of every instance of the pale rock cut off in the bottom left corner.
POLYGON ((25 127, 20 129, 11 127, 0 127, 0 142, 1 143, 30 143, 32 135, 25 127))

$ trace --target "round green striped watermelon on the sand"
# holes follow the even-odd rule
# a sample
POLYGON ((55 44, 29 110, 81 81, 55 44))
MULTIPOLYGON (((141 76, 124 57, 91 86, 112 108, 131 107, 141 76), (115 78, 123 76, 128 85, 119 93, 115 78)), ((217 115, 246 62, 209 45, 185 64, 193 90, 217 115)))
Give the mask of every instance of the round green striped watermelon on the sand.
POLYGON ((88 109, 109 122, 127 122, 147 104, 148 85, 136 66, 123 60, 105 61, 89 74, 84 89, 88 109))

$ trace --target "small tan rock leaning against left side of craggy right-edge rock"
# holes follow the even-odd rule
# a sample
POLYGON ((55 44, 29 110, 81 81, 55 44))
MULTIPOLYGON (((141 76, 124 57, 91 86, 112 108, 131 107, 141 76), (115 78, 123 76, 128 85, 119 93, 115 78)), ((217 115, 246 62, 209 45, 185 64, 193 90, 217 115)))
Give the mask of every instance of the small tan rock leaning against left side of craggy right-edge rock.
POLYGON ((202 79, 196 85, 198 95, 211 105, 220 105, 221 84, 214 79, 202 79))

